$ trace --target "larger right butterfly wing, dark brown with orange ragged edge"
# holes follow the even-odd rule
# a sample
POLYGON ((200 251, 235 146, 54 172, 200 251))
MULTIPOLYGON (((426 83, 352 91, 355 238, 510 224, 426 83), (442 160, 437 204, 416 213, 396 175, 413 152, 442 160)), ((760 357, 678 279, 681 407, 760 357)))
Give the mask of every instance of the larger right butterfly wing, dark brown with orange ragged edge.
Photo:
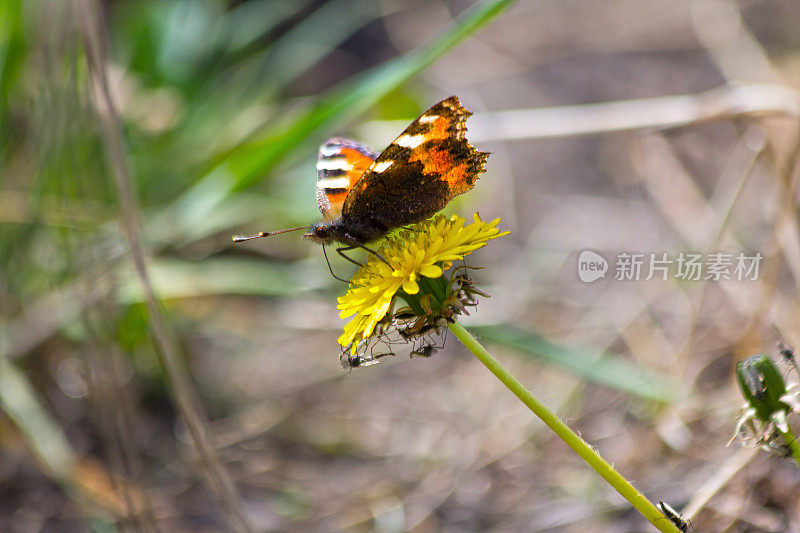
POLYGON ((425 111, 352 186, 342 206, 343 222, 385 233, 428 218, 472 189, 489 153, 467 141, 471 114, 456 96, 425 111))

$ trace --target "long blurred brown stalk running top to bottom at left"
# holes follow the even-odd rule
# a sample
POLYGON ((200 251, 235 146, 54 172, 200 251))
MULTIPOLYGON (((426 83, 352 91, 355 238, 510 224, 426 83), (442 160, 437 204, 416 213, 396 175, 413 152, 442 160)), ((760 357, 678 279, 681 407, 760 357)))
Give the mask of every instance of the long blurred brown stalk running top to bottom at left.
POLYGON ((114 175, 117 194, 122 211, 122 231, 130 248, 134 269, 144 293, 145 304, 150 314, 150 325, 158 348, 161 364, 169 378, 172 397, 191 435, 195 451, 200 459, 206 483, 216 495, 220 505, 237 531, 252 531, 242 507, 236 487, 227 471, 213 452, 211 438, 200 414, 195 392, 179 363, 178 349, 167 326, 150 283, 145 250, 141 239, 141 223, 134 199, 130 179, 127 150, 123 140, 122 125, 108 86, 105 68, 107 35, 97 5, 92 0, 80 0, 80 18, 83 28, 84 46, 89 72, 91 97, 103 135, 108 163, 114 175))

